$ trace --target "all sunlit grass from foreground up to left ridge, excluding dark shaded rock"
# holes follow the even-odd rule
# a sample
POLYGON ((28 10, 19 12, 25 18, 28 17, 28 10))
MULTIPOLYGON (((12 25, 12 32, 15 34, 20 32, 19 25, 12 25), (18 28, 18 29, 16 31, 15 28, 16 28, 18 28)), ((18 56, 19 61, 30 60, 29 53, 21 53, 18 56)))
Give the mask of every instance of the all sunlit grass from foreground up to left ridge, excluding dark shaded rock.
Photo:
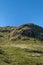
MULTIPOLYGON (((39 32, 39 28, 38 30, 37 28, 35 31, 39 32)), ((0 32, 0 35, 3 36, 0 37, 0 65, 43 65, 43 41, 32 37, 27 37, 25 40, 22 35, 21 39, 15 41, 13 33, 28 29, 28 27, 21 26, 13 31, 12 29, 15 28, 3 27, 0 29, 11 31, 10 33, 0 32), (13 40, 11 40, 12 37, 13 40)), ((19 35, 17 34, 17 36, 19 35)))

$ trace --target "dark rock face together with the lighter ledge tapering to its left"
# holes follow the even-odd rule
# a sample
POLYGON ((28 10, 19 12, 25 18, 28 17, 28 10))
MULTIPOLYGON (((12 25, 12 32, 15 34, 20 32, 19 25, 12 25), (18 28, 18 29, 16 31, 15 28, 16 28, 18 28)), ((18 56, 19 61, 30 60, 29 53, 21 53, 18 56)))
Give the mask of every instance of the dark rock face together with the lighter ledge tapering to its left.
POLYGON ((19 32, 14 32, 13 36, 16 36, 16 35, 19 35, 19 34, 22 35, 22 36, 28 36, 28 37, 34 37, 35 36, 34 31, 31 28, 21 30, 19 32))

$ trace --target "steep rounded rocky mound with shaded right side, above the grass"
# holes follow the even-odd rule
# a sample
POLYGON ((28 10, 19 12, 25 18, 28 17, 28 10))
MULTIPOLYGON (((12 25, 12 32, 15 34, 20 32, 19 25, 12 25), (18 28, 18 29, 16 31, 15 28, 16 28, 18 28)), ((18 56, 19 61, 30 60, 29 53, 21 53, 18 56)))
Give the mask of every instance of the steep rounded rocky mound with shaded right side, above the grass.
MULTIPOLYGON (((17 27, 12 32, 12 37, 16 39, 21 39, 21 37, 33 37, 33 38, 40 38, 40 35, 43 36, 43 28, 35 25, 35 24, 24 24, 17 27)), ((43 39, 43 37, 41 37, 43 39)))

